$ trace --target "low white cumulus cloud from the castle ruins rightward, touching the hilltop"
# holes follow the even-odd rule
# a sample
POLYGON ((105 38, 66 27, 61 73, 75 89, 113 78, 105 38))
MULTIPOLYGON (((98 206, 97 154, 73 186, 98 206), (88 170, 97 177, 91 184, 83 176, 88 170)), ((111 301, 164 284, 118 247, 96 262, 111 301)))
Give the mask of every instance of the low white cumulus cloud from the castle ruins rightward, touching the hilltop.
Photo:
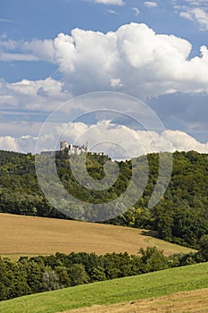
POLYGON ((63 132, 65 138, 71 138, 80 145, 88 142, 93 151, 104 151, 112 158, 129 158, 160 151, 208 152, 208 143, 200 143, 183 131, 141 131, 125 125, 115 125, 102 121, 93 125, 85 123, 71 124, 63 132))

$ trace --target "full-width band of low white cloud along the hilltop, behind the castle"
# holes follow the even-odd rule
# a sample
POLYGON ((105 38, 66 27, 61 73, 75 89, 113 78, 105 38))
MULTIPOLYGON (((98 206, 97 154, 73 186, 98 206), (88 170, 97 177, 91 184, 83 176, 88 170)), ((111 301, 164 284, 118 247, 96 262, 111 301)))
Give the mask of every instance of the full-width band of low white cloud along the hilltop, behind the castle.
POLYGON ((62 139, 82 145, 88 142, 91 151, 104 151, 112 158, 130 158, 146 155, 159 151, 189 151, 196 150, 200 153, 208 153, 208 142, 200 143, 186 132, 163 131, 158 134, 155 131, 135 131, 125 125, 102 121, 87 125, 86 123, 71 123, 67 128, 64 124, 52 124, 51 132, 37 139, 35 135, 12 137, 0 137, 0 149, 35 152, 37 140, 42 150, 54 149, 57 134, 62 132, 62 139), (62 131, 64 128, 64 131, 62 131))

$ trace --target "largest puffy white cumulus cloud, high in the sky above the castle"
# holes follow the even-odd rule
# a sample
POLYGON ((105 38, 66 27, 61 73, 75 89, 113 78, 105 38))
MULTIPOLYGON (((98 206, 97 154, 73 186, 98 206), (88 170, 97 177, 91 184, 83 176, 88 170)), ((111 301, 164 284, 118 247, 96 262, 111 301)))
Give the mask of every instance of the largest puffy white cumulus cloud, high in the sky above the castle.
MULTIPOLYGON (((2 43, 12 53, 16 46, 12 41, 2 43)), ((61 33, 54 40, 34 39, 21 46, 25 55, 56 63, 62 73, 62 86, 54 82, 56 89, 74 96, 115 87, 143 100, 173 92, 208 92, 207 47, 191 58, 189 41, 157 34, 144 23, 122 25, 106 34, 75 29, 71 35, 61 33)))

